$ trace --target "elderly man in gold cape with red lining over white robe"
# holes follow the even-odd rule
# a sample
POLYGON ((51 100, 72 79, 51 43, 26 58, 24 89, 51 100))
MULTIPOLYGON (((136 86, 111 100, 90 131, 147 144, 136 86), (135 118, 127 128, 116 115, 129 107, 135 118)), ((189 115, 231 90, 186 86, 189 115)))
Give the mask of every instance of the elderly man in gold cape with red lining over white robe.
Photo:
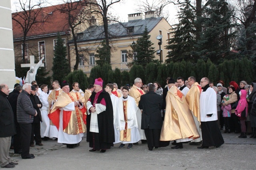
POLYGON ((58 128, 58 143, 67 145, 67 148, 79 146, 79 142, 86 132, 86 126, 82 120, 82 108, 84 107, 80 93, 72 95, 69 92, 69 84, 62 82, 62 93, 54 103, 51 113, 48 114, 54 125, 58 128))

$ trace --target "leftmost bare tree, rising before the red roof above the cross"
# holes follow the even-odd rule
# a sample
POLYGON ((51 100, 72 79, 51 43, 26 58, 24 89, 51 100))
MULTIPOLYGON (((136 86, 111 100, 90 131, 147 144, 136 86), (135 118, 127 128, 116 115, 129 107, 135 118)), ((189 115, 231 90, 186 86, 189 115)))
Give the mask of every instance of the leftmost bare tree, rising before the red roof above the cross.
POLYGON ((45 3, 45 0, 38 0, 34 4, 32 0, 18 0, 15 3, 16 12, 12 14, 12 20, 22 28, 22 60, 25 60, 28 32, 32 29, 32 26, 45 22, 40 17, 43 3, 45 3))

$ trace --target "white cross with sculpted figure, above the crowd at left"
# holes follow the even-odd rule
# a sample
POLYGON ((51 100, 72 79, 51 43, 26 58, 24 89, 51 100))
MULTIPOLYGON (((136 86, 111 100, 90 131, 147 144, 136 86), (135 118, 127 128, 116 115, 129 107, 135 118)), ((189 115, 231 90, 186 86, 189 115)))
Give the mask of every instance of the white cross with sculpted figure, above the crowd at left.
POLYGON ((25 79, 25 82, 31 83, 32 81, 36 80, 36 72, 38 68, 41 66, 43 67, 44 64, 42 63, 42 60, 44 60, 44 57, 41 58, 41 60, 36 64, 34 56, 29 56, 30 57, 30 64, 21 64, 21 67, 29 67, 30 69, 27 72, 27 76, 25 79))

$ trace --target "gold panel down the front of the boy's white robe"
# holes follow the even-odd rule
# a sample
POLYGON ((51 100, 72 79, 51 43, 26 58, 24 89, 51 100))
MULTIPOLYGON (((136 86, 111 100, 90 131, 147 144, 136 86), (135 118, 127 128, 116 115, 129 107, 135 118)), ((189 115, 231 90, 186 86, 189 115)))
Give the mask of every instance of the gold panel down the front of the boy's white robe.
POLYGON ((124 130, 120 131, 120 141, 131 141, 131 129, 127 128, 127 102, 128 100, 123 101, 125 126, 124 130))

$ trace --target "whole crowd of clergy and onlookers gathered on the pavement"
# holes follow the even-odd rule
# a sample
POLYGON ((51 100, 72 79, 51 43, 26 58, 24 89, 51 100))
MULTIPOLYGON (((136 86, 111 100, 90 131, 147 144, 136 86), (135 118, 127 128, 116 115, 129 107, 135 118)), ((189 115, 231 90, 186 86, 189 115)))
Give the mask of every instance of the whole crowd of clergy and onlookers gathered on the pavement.
POLYGON ((183 148, 184 142, 198 146, 220 147, 223 133, 240 133, 238 138, 256 138, 256 83, 239 86, 231 81, 228 88, 222 80, 210 82, 204 77, 200 84, 193 76, 166 79, 144 84, 140 78, 130 86, 108 83, 101 78, 82 91, 79 83, 58 81, 52 90, 36 81, 10 90, 0 84, 0 166, 13 168, 10 148, 22 159, 30 154, 34 144, 56 140, 67 148, 79 146, 84 133, 90 152, 106 152, 133 145, 147 144, 148 150, 165 147, 183 148), (34 143, 35 141, 35 143, 34 143), (127 144, 127 145, 126 145, 127 144))

